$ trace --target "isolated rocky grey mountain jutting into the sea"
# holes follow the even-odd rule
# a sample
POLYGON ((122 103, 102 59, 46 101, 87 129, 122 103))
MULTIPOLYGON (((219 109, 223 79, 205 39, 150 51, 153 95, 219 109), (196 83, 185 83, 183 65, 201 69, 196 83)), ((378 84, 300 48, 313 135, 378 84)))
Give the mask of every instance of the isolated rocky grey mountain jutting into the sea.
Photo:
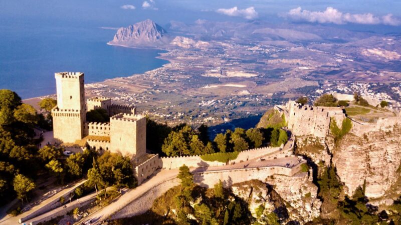
POLYGON ((168 44, 167 31, 150 19, 121 27, 108 44, 132 47, 158 47, 168 44))

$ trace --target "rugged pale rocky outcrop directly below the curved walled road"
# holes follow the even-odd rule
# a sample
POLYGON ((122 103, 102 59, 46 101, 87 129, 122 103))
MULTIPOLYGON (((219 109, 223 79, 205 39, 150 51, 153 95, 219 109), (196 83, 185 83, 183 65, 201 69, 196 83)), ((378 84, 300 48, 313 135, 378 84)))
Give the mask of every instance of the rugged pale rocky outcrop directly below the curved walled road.
POLYGON ((248 202, 252 215, 259 222, 263 222, 271 211, 283 222, 296 220, 301 224, 320 214, 321 201, 317 199, 317 186, 307 172, 294 176, 269 176, 263 182, 250 180, 236 183, 232 189, 235 195, 248 202), (261 206, 264 212, 258 217, 257 210, 261 206))

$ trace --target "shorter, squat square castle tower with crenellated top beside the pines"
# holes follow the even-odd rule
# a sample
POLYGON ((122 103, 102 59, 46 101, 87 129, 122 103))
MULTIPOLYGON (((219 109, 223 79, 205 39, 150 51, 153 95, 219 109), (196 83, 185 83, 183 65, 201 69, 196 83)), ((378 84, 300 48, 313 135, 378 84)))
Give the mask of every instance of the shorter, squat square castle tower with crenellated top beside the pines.
POLYGON ((127 113, 110 117, 110 151, 137 158, 146 153, 146 117, 127 113))

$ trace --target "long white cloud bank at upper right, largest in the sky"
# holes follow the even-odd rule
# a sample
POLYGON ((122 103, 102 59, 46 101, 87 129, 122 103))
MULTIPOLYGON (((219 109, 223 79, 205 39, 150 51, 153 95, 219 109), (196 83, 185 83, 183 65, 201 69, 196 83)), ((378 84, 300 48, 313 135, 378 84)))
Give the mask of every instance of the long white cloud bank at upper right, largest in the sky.
POLYGON ((386 24, 386 25, 400 25, 401 21, 394 18, 392 14, 384 16, 376 16, 372 13, 362 14, 351 14, 343 13, 336 8, 327 7, 324 11, 309 11, 302 9, 301 7, 293 8, 289 12, 285 13, 285 17, 289 17, 295 20, 304 20, 308 22, 319 22, 319 23, 359 23, 359 24, 386 24))

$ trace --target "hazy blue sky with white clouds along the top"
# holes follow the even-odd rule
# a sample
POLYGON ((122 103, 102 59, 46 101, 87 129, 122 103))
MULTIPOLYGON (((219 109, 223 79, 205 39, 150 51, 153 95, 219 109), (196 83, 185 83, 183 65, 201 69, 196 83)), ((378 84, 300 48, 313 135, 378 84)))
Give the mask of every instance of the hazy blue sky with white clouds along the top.
POLYGON ((35 20, 123 26, 196 19, 401 25, 401 0, 0 0, 3 21, 35 20))

